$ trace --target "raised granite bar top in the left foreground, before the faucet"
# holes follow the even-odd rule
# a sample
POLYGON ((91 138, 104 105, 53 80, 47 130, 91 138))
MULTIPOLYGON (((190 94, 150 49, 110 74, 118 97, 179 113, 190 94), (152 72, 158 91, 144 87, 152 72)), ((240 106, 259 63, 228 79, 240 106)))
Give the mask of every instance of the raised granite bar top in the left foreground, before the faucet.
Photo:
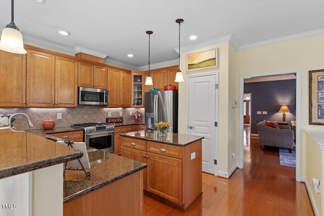
POLYGON ((0 130, 0 179, 82 157, 83 152, 27 132, 0 130))

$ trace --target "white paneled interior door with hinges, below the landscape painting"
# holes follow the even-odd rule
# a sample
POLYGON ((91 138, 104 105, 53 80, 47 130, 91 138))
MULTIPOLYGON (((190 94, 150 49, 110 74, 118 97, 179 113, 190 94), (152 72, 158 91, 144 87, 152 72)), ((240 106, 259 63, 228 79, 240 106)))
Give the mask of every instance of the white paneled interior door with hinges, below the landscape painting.
POLYGON ((217 165, 218 72, 188 75, 188 134, 203 136, 203 171, 215 175, 217 165))

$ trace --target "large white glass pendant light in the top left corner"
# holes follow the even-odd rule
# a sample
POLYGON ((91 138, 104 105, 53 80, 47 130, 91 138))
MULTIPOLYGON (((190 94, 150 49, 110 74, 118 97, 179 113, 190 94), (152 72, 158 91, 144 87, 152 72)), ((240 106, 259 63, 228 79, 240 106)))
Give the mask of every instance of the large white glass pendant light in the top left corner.
POLYGON ((10 53, 26 54, 22 35, 14 22, 14 0, 11 0, 11 22, 4 28, 0 39, 0 50, 10 53))

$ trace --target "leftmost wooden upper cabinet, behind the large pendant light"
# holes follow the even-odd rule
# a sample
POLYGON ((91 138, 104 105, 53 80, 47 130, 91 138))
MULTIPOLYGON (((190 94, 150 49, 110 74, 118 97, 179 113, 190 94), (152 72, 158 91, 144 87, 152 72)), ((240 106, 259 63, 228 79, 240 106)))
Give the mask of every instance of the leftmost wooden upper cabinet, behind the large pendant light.
POLYGON ((26 106, 26 55, 0 50, 0 107, 26 106))

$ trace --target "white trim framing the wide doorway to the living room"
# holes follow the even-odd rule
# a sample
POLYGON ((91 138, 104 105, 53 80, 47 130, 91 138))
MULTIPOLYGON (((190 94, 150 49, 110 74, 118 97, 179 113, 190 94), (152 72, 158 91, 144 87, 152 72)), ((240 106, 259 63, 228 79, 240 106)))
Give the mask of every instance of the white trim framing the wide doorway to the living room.
MULTIPOLYGON (((239 76, 239 146, 238 146, 238 167, 244 167, 244 147, 243 147, 243 95, 244 95, 244 78, 268 76, 276 74, 289 74, 296 73, 296 122, 301 122, 301 73, 300 69, 279 71, 279 72, 267 72, 263 74, 247 74, 239 76)), ((301 125, 296 124, 296 181, 300 182, 301 175, 301 125)))

